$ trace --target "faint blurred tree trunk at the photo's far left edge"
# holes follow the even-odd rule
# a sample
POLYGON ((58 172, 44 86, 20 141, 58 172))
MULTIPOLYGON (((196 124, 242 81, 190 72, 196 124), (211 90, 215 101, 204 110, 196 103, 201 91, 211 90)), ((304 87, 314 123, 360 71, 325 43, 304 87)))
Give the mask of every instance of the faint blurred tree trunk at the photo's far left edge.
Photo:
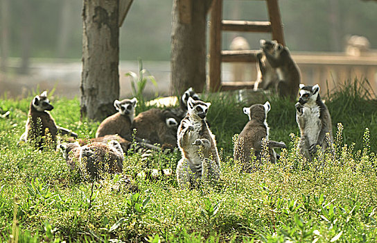
POLYGON ((8 67, 9 50, 9 0, 1 1, 1 70, 6 72, 8 67))

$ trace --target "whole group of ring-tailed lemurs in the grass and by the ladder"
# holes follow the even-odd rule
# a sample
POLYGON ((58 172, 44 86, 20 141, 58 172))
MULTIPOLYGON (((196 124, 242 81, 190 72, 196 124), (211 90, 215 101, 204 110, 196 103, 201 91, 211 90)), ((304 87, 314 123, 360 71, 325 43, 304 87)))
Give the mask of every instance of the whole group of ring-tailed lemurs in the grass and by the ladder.
MULTIPOLYGON (((319 96, 319 85, 301 84, 299 69, 286 47, 275 41, 261 40, 260 44, 254 88, 272 89, 294 101, 299 94, 295 104, 301 133, 298 149, 310 161, 317 149, 324 151, 333 141, 331 117, 319 96)), ((91 178, 98 178, 101 173, 121 173, 124 156, 130 148, 135 149, 135 140, 143 149, 172 151, 178 147, 182 153, 176 169, 179 185, 192 187, 197 181, 218 181, 220 158, 206 119, 211 103, 202 101, 192 88, 182 94, 179 103, 179 108, 152 108, 135 117, 137 99, 116 100, 114 107, 118 112, 100 123, 96 137, 80 140, 76 133, 55 124, 48 112, 53 106, 47 93, 42 92, 30 103, 26 131, 20 140, 42 150, 46 148, 46 139, 42 137, 50 137, 58 142, 69 168, 80 169, 91 178), (68 142, 61 143, 59 135, 68 135, 68 142)), ((269 140, 266 119, 270 109, 268 101, 243 108, 249 121, 234 143, 234 160, 245 165, 245 169, 255 162, 251 160, 261 160, 263 151, 268 151, 271 162, 276 162, 279 154, 274 149, 286 148, 284 142, 269 140)))

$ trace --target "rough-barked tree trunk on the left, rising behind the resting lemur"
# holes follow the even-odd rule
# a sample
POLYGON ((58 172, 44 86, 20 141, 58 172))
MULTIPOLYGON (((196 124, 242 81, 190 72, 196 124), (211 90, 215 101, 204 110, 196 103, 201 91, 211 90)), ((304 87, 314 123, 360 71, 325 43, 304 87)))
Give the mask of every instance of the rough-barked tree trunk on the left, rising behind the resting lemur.
POLYGON ((81 117, 102 120, 119 99, 119 0, 84 0, 81 117))

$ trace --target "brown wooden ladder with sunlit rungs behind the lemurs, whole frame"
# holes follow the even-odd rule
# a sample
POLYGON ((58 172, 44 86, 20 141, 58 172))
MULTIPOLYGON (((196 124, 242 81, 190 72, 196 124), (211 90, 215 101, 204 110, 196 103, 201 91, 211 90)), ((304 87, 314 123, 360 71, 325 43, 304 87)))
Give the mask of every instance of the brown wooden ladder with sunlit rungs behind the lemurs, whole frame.
POLYGON ((221 31, 272 33, 272 40, 285 45, 278 0, 264 0, 267 3, 270 22, 222 20, 222 1, 213 0, 209 42, 209 90, 240 90, 252 88, 254 82, 221 82, 221 62, 256 62, 259 50, 223 51, 221 31))

